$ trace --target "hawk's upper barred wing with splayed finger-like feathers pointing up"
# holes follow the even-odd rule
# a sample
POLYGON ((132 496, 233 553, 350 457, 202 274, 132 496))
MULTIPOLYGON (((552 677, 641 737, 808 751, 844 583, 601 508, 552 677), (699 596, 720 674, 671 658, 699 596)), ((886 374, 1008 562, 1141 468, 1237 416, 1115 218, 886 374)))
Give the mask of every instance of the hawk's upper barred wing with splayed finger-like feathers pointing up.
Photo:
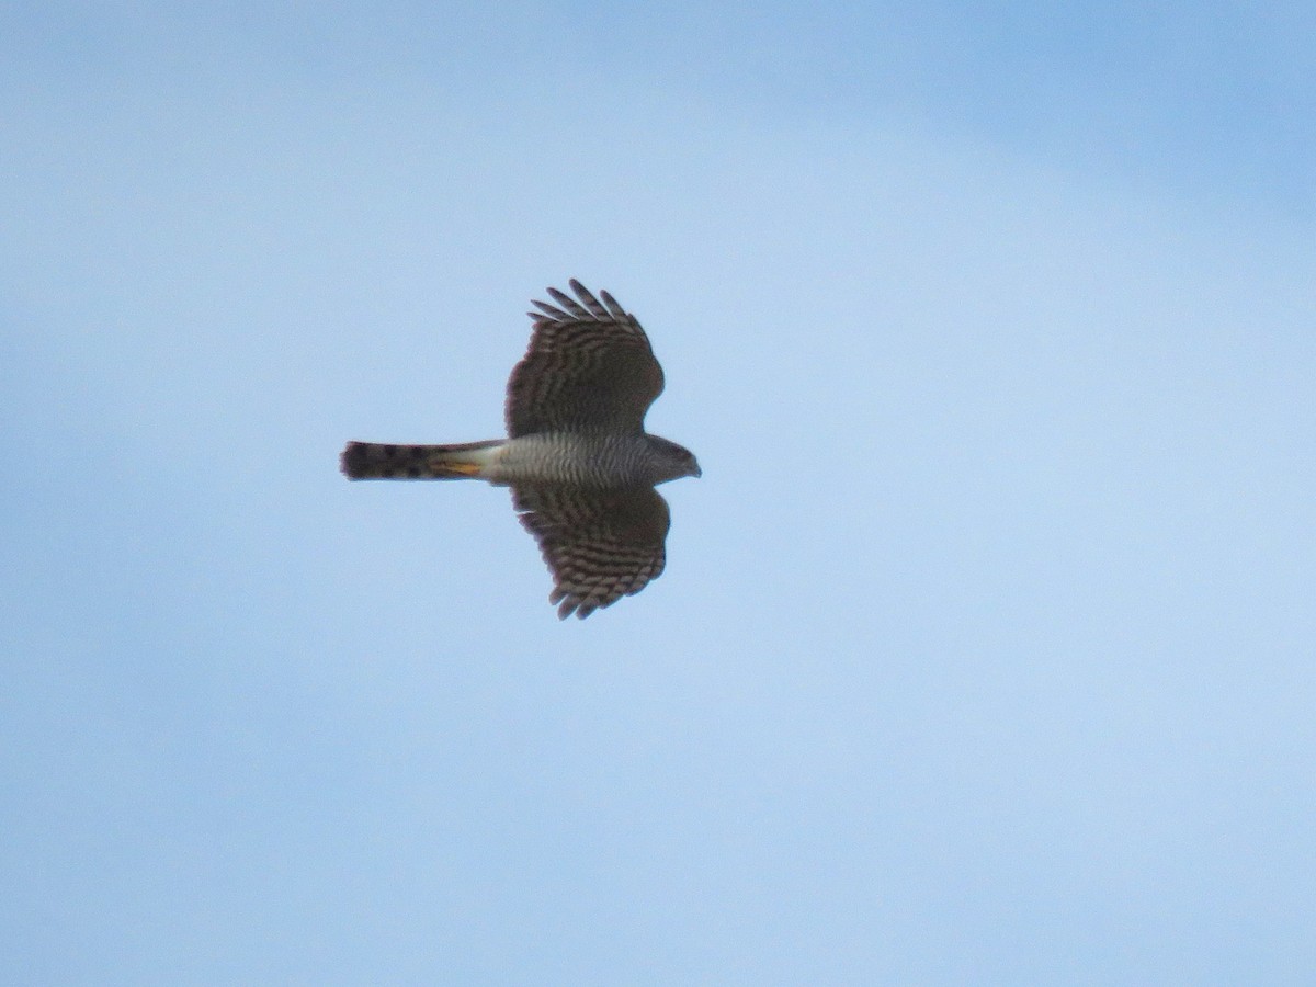
POLYGON ((662 393, 662 367, 634 316, 608 292, 600 303, 580 282, 576 297, 534 304, 534 333, 507 384, 507 433, 640 432, 662 393), (579 299, 579 301, 576 300, 579 299))

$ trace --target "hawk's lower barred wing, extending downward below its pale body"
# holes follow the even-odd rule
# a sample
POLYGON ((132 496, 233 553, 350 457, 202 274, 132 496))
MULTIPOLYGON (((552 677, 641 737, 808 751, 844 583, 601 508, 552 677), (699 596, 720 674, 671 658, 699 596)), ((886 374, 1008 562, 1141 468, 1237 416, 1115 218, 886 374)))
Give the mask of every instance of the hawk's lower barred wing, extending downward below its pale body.
POLYGON ((588 617, 662 575, 671 520, 653 487, 517 486, 512 504, 553 572, 559 617, 588 617))

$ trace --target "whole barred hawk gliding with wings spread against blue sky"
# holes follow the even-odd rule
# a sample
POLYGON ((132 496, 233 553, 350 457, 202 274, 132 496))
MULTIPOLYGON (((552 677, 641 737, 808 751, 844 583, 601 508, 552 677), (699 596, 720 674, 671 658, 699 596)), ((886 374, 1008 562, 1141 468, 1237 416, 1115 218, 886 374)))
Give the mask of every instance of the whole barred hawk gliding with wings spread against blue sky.
POLYGON ((507 384, 507 434, 458 445, 349 442, 347 479, 482 479, 512 488, 554 588, 558 617, 588 617, 662 575, 670 516, 654 487, 699 476, 694 454, 645 432, 662 367, 633 315, 571 282, 534 301, 507 384))

